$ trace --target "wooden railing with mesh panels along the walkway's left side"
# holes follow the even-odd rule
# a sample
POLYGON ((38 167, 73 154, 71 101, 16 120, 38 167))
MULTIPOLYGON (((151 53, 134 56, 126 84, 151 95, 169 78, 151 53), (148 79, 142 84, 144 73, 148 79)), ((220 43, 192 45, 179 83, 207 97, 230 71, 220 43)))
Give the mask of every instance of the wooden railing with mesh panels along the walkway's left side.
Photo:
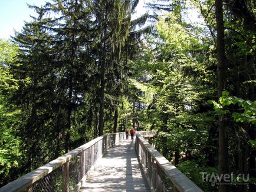
POLYGON ((78 191, 105 151, 122 141, 124 133, 104 134, 0 188, 11 191, 78 191))

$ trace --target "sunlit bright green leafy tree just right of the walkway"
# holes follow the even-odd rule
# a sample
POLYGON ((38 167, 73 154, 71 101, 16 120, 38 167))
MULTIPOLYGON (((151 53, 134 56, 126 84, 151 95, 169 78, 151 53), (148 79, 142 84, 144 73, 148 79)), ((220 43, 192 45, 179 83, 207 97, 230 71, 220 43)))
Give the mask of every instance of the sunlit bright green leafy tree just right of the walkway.
MULTIPOLYGON (((208 142, 208 131, 215 123, 207 100, 214 95, 209 47, 196 37, 175 14, 160 18, 156 24, 157 38, 148 38, 152 47, 134 62, 136 80, 130 81, 142 94, 139 122, 146 128, 159 130, 153 141, 157 150, 173 161, 176 150, 192 153, 198 158, 208 142), (146 117, 146 118, 145 118, 146 117), (162 131, 162 132, 161 132, 162 131)), ((216 150, 216 149, 215 149, 216 150)), ((189 157, 191 158, 191 157, 189 157)))

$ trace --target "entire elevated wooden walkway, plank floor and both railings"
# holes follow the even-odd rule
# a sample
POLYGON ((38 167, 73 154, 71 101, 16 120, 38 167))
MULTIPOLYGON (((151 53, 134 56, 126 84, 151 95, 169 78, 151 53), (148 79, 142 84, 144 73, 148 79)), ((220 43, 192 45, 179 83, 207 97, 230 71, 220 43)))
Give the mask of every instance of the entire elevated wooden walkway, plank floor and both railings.
POLYGON ((104 134, 0 188, 11 191, 202 191, 143 137, 104 134), (103 158, 102 158, 103 157, 103 158))

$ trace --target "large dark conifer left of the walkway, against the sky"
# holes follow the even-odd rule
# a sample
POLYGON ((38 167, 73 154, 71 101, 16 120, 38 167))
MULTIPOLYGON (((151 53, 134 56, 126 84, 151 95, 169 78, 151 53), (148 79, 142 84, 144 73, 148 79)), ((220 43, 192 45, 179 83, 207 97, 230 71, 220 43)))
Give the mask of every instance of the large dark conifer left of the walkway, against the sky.
POLYGON ((73 112, 83 104, 91 62, 87 5, 87 1, 55 1, 41 8, 31 6, 38 18, 25 24, 15 37, 25 53, 18 75, 31 79, 16 98, 30 111, 24 114, 19 131, 26 138, 27 167, 38 167, 44 163, 41 159, 49 161, 70 149, 73 112), (54 13, 57 15, 51 17, 54 13))

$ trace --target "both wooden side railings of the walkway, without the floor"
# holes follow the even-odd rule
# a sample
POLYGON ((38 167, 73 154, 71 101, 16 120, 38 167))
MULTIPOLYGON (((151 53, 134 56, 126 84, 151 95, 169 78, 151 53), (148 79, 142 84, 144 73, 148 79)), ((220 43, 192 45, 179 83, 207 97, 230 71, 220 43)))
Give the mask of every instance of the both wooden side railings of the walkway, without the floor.
MULTIPOLYGON (((140 131, 136 134, 135 143, 135 150, 152 189, 155 191, 202 191, 143 138, 150 138, 154 134, 153 131, 140 131)), ((0 192, 78 191, 93 170, 96 161, 108 148, 124 138, 124 133, 104 134, 97 137, 12 181, 0 188, 0 192)))

